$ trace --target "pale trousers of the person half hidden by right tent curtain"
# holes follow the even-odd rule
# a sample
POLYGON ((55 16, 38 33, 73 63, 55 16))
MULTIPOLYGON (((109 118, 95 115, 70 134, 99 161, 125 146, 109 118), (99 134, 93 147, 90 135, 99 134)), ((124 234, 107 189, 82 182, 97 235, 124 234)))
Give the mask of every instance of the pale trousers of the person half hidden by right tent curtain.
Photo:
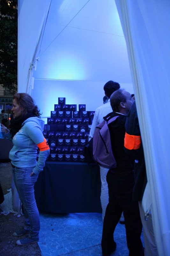
POLYGON ((152 214, 145 220, 142 201, 139 201, 139 211, 144 232, 144 256, 159 256, 153 233, 152 214))

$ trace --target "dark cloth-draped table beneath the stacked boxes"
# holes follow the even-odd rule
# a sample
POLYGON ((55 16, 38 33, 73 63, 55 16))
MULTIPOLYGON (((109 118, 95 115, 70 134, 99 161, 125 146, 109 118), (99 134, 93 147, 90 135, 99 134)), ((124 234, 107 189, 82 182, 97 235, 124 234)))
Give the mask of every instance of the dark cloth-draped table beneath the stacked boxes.
POLYGON ((46 162, 34 189, 40 212, 102 212, 97 164, 46 162))

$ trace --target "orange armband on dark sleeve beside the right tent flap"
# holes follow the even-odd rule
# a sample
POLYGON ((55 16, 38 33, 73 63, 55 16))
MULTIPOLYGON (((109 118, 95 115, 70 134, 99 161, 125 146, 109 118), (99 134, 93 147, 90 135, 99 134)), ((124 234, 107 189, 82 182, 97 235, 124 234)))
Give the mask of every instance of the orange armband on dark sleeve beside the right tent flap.
POLYGON ((124 138, 124 147, 127 149, 138 149, 141 144, 141 136, 129 135, 127 132, 125 133, 124 138))

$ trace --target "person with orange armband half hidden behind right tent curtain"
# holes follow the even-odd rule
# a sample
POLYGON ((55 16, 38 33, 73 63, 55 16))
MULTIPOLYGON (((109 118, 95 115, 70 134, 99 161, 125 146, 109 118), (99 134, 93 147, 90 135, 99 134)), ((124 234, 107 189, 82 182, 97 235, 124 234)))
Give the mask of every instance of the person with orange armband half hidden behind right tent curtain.
POLYGON ((135 102, 129 110, 125 123, 125 130, 124 150, 135 161, 135 185, 133 188, 133 201, 139 203, 140 216, 144 231, 145 255, 158 256, 158 250, 153 232, 152 214, 150 212, 147 218, 145 218, 145 213, 142 207, 142 197, 147 183, 147 176, 144 150, 135 102))

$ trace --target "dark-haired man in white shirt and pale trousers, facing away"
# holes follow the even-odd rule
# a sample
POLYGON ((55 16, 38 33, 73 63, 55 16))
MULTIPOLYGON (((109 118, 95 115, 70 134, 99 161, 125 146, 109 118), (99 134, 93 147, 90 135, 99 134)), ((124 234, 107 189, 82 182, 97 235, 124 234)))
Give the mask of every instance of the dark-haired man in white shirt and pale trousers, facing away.
MULTIPOLYGON (((94 113, 94 118, 92 122, 92 127, 90 129, 90 134, 89 134, 89 140, 92 139, 95 131, 95 127, 100 124, 103 121, 103 117, 112 112, 112 108, 110 106, 110 96, 113 92, 118 90, 120 88, 120 84, 114 82, 114 81, 108 81, 104 85, 104 92, 105 96, 107 96, 107 103, 101 105, 98 107, 94 113)), ((107 187, 107 181, 106 181, 106 175, 108 172, 108 168, 104 168, 100 166, 100 179, 101 179, 101 196, 100 196, 100 201, 101 201, 101 207, 102 207, 102 219, 104 220, 105 216, 105 211, 106 207, 108 204, 108 187, 107 187)))

